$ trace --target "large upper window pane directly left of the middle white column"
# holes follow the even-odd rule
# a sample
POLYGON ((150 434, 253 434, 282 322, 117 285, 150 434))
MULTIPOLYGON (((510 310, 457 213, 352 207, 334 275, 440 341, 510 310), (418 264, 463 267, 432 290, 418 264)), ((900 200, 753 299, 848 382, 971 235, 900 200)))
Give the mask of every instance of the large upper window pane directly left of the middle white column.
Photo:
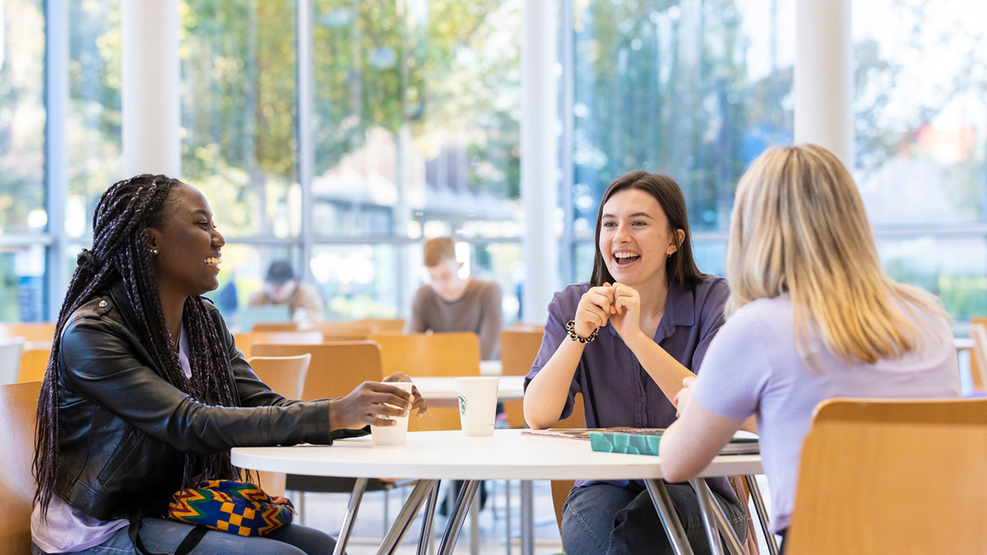
POLYGON ((518 236, 520 7, 315 2, 317 235, 518 236))

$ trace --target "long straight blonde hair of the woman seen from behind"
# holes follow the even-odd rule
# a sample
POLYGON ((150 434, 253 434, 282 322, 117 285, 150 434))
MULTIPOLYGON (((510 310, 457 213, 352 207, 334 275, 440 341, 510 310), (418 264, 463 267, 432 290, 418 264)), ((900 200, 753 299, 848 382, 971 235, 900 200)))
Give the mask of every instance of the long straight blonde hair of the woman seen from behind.
POLYGON ((873 363, 917 348, 921 335, 902 307, 948 317, 931 293, 887 276, 853 178, 814 144, 769 148, 740 178, 726 278, 727 315, 791 295, 803 360, 810 328, 834 355, 873 363))

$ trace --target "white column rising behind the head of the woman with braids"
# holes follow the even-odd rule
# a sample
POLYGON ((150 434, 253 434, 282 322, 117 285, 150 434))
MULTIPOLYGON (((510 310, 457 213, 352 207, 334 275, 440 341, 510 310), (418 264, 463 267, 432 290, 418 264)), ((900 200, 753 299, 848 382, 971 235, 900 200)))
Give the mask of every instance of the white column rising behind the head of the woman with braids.
POLYGON ((179 1, 121 6, 123 175, 182 173, 179 1))

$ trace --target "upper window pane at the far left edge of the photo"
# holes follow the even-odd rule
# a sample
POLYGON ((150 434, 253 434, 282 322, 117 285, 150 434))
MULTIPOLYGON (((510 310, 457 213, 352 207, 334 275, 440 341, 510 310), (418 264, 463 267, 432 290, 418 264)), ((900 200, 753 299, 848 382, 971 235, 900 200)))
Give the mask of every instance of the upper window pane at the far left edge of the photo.
POLYGON ((44 120, 44 2, 0 2, 0 233, 46 228, 44 120))

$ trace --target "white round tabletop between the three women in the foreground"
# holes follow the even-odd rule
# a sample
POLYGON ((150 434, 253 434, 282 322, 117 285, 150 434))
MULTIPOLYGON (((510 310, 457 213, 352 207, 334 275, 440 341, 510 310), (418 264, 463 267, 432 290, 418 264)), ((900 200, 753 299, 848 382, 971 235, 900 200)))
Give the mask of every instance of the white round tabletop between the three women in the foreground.
MULTIPOLYGON (((393 476, 423 480, 426 485, 440 479, 476 482, 661 478, 659 457, 597 452, 585 440, 523 435, 519 430, 497 430, 488 437, 466 437, 460 431, 417 432, 408 435, 406 445, 390 447, 374 446, 370 437, 338 440, 332 446, 236 447, 232 456, 233 464, 254 470, 354 478, 393 476)), ((714 458, 699 476, 760 473, 759 455, 728 455, 714 458)), ((414 519, 418 509, 410 516, 409 512, 403 513, 414 519)), ((410 521, 395 522, 396 527, 399 524, 407 530, 410 521)), ((454 541, 458 526, 452 521, 450 526, 446 535, 451 534, 454 541)), ((403 533, 397 535, 397 540, 403 533)))

